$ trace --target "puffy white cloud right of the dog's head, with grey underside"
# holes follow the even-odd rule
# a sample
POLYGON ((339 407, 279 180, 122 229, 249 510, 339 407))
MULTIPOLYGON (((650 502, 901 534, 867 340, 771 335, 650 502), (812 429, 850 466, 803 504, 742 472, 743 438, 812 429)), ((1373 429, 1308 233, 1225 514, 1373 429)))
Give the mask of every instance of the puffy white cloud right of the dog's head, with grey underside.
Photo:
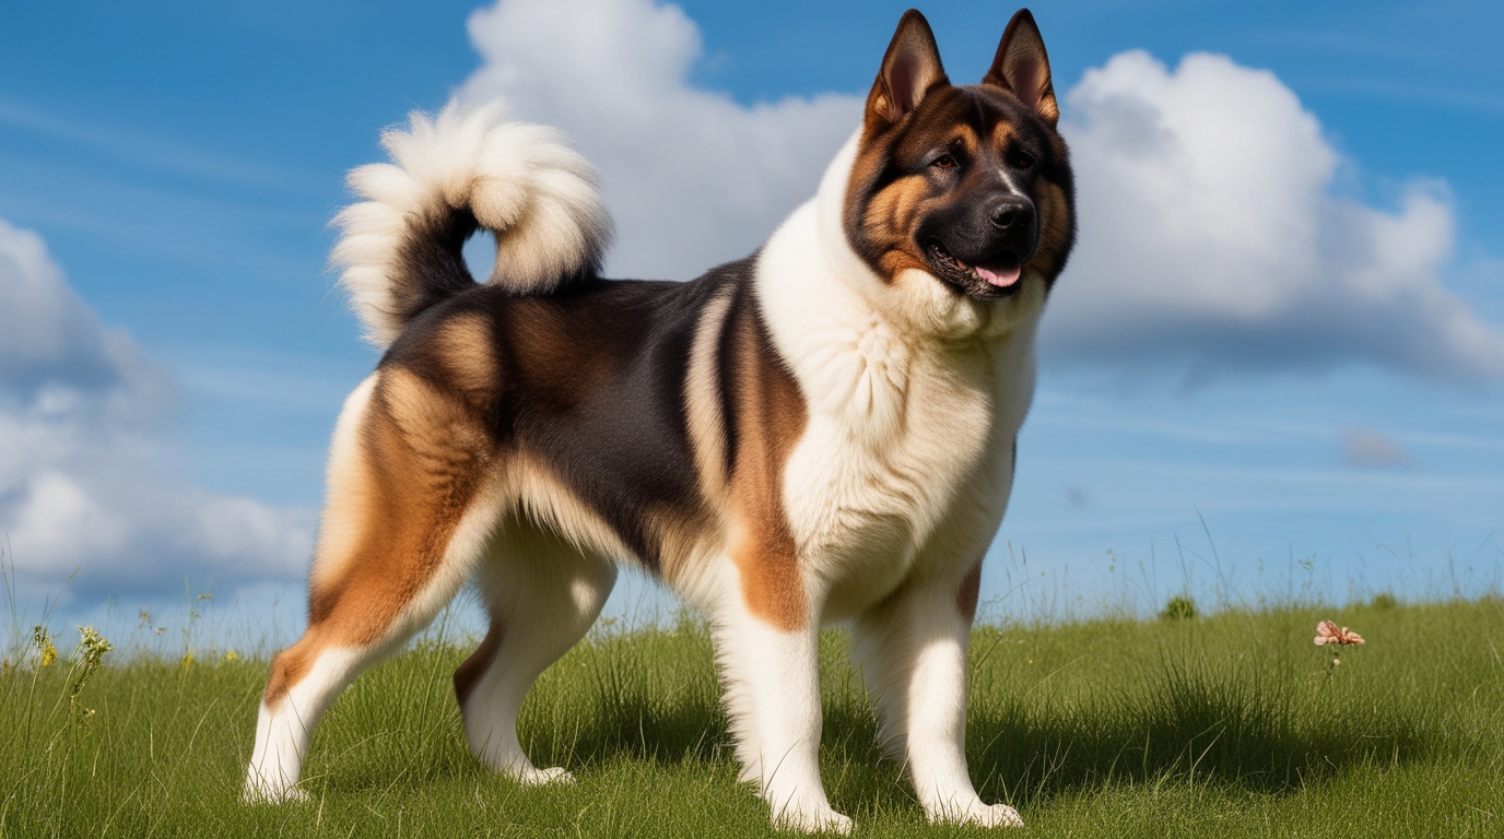
POLYGON ((1047 352, 1504 376, 1504 338, 1441 283, 1445 188, 1414 183, 1393 212, 1334 194, 1345 161, 1274 74, 1208 54, 1172 72, 1133 51, 1066 101, 1081 238, 1047 352))

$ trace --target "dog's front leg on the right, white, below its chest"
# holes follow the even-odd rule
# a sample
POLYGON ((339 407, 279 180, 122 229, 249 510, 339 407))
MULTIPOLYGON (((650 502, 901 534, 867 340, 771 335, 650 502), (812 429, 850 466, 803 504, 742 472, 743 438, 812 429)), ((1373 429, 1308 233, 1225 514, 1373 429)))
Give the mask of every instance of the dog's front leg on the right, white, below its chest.
POLYGON ((1018 810, 982 803, 966 768, 966 650, 979 568, 911 582, 862 615, 856 656, 878 705, 878 735, 905 762, 929 821, 1023 827, 1018 810))

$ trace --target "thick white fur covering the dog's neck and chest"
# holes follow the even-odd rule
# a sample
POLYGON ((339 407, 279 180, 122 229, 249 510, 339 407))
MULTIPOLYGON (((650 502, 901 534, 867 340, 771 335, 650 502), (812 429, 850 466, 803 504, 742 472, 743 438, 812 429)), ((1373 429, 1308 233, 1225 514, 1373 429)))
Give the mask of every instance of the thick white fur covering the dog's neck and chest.
POLYGON ((808 403, 784 504, 800 556, 832 580, 827 619, 860 613, 908 577, 957 505, 984 505, 996 529, 1044 308, 1033 275, 996 302, 917 271, 884 284, 839 224, 854 146, 767 242, 757 274, 773 343, 808 403))

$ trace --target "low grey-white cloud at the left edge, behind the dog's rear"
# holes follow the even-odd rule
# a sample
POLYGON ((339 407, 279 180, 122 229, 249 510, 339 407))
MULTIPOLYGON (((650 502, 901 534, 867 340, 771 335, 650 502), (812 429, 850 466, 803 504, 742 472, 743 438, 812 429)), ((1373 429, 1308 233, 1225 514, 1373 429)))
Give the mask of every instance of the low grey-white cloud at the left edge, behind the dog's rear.
POLYGON ((301 571, 307 513, 164 472, 170 410, 167 377, 101 323, 38 235, 0 220, 0 532, 26 585, 75 570, 74 594, 301 571))

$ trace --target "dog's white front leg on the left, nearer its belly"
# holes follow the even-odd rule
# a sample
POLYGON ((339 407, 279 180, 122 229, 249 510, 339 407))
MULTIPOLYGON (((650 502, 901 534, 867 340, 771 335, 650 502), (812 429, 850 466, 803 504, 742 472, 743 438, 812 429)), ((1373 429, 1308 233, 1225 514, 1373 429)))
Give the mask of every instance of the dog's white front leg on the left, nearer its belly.
MULTIPOLYGON (((735 576, 735 574, 732 574, 735 576)), ((716 656, 741 780, 757 783, 773 822, 803 831, 848 833, 820 782, 820 621, 755 607, 741 585, 716 613, 716 656)))

